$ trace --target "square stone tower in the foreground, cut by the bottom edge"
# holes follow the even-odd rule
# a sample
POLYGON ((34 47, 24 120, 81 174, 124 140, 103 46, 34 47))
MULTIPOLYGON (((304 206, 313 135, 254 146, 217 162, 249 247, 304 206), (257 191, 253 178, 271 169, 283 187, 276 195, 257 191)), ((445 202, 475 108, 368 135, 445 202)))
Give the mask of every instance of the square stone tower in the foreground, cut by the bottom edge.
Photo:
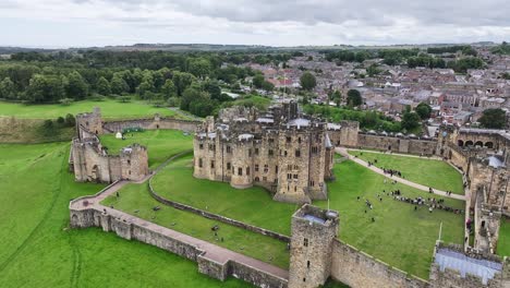
POLYGON ((339 217, 333 211, 303 205, 292 216, 289 288, 324 285, 331 271, 339 217))

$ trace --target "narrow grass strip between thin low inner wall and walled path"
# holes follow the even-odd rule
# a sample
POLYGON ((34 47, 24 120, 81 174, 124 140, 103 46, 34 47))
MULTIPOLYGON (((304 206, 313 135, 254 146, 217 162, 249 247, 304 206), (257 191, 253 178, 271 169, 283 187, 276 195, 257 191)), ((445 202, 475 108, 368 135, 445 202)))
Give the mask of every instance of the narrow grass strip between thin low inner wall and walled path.
POLYGON ((224 225, 190 212, 161 205, 161 203, 149 195, 147 183, 129 184, 121 190, 119 199, 112 195, 104 200, 102 204, 108 206, 113 205, 114 208, 124 211, 131 215, 282 268, 289 267, 287 243, 242 228, 224 225), (159 206, 161 209, 154 212, 153 207, 155 206, 159 206), (215 225, 220 227, 217 237, 210 229, 215 225), (221 238, 223 238, 223 242, 221 238))

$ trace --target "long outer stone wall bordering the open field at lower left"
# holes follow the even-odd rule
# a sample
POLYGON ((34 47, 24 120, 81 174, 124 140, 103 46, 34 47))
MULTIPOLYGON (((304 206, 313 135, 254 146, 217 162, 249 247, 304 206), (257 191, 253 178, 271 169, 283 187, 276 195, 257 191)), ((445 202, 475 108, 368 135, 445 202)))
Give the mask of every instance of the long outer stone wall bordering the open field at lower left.
MULTIPOLYGON (((117 182, 113 184, 117 184, 117 182)), ((96 194, 96 196, 106 190, 108 188, 96 194)), ((104 231, 112 231, 123 239, 137 240, 158 247, 197 262, 201 273, 220 280, 233 276, 264 288, 287 288, 288 286, 287 278, 250 265, 251 261, 254 261, 250 257, 238 261, 224 259, 223 255, 209 254, 209 252, 186 241, 186 237, 179 237, 179 235, 173 237, 172 233, 167 232, 171 230, 161 226, 136 217, 126 217, 126 214, 114 209, 105 208, 100 211, 95 205, 83 206, 84 201, 94 197, 85 196, 71 202, 70 225, 72 228, 101 227, 104 231)))

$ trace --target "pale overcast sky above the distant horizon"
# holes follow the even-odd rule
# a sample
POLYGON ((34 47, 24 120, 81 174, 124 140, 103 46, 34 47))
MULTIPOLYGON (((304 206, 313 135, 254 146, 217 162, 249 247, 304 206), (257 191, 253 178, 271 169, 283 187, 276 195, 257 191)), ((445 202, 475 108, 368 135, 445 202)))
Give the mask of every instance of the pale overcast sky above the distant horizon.
POLYGON ((0 46, 510 40, 509 0, 0 0, 0 46))

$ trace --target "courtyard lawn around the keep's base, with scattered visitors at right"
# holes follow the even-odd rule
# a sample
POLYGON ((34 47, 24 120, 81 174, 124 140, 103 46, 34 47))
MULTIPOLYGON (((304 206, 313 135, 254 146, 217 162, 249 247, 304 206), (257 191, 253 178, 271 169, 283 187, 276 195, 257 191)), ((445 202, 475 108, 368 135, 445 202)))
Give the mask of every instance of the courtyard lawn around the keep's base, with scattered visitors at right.
MULTIPOLYGON (((161 196, 208 209, 227 217, 290 235, 291 215, 296 205, 275 202, 262 188, 236 190, 229 183, 194 179, 191 156, 169 164, 153 179, 154 189, 161 196)), ((353 161, 337 164, 337 181, 328 184, 330 207, 340 212, 340 238, 345 242, 373 254, 401 269, 428 277, 434 244, 444 221, 444 240, 461 243, 463 238, 462 215, 434 211, 432 214, 420 207, 384 196, 376 200, 382 190, 400 189, 405 196, 430 196, 428 193, 403 184, 384 184, 384 177, 353 161), (374 203, 374 209, 365 214, 364 201, 374 203), (376 218, 372 223, 372 217, 376 218)), ((327 202, 316 202, 327 206, 327 202)), ((446 205, 463 208, 464 203, 446 200, 446 205)))

